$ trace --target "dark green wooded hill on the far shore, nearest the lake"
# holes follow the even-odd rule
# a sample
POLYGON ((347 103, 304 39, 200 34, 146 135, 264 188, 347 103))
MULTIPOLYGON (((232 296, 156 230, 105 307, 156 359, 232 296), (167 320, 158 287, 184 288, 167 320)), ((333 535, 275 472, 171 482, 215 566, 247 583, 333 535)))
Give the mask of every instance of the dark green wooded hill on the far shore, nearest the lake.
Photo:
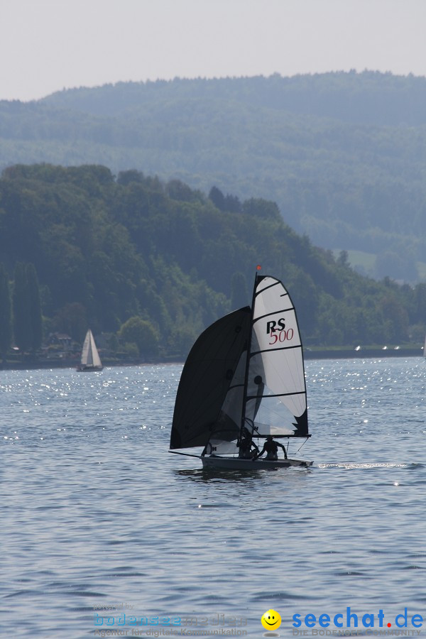
MULTIPOLYGON (((342 253, 312 246, 275 203, 209 195, 136 170, 17 165, 0 180, 0 263, 31 263, 45 331, 81 342, 141 317, 160 356, 185 356, 199 332, 246 305, 257 263, 283 279, 305 344, 422 340, 426 285, 378 283, 342 253)), ((137 341, 137 340, 135 340, 137 341)))

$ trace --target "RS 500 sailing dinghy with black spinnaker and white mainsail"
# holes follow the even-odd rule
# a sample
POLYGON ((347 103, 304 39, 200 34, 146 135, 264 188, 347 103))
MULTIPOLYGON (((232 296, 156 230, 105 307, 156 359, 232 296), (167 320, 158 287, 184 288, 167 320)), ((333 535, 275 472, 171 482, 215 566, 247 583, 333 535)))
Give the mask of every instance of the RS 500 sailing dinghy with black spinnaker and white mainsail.
MULTIPOLYGON (((311 466, 306 459, 253 459, 242 442, 310 437, 305 368, 293 302, 280 280, 256 273, 251 307, 209 326, 187 357, 176 395, 170 452, 204 468, 311 466), (271 439, 271 437, 269 437, 271 439), (200 454, 182 449, 202 447, 200 454)), ((250 451, 250 447, 249 447, 250 451)))

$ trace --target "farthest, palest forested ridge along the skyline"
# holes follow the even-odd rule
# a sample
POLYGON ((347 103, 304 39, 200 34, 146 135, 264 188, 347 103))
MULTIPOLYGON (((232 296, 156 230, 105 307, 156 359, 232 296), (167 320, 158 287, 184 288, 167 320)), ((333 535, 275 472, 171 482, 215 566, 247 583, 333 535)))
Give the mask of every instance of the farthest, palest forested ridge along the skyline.
MULTIPOLYGON (((351 124, 426 124, 426 80, 379 72, 332 72, 281 77, 227 77, 212 80, 119 82, 96 89, 65 89, 40 104, 94 116, 142 114, 174 101, 222 100, 256 109, 341 120, 351 124)), ((200 114, 202 116, 202 114, 200 114)))

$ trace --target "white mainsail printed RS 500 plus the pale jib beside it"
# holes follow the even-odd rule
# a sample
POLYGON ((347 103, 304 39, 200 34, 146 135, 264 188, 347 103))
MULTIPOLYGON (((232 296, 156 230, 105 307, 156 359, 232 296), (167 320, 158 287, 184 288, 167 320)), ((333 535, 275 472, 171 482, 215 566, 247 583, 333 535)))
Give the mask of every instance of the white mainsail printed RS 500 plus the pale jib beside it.
POLYGON ((237 452, 235 430, 308 437, 305 366, 293 302, 280 280, 256 278, 246 350, 241 354, 209 441, 218 454, 237 452), (224 437, 224 433, 226 436, 224 437))

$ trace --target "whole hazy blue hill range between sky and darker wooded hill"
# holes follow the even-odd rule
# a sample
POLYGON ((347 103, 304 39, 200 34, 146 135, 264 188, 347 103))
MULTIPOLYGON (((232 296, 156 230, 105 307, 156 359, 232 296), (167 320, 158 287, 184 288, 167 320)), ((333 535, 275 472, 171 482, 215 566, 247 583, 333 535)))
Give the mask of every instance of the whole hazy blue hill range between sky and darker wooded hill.
POLYGON ((413 283, 426 274, 425 104, 425 78, 378 72, 70 89, 0 102, 0 168, 100 163, 263 197, 314 244, 413 283))

